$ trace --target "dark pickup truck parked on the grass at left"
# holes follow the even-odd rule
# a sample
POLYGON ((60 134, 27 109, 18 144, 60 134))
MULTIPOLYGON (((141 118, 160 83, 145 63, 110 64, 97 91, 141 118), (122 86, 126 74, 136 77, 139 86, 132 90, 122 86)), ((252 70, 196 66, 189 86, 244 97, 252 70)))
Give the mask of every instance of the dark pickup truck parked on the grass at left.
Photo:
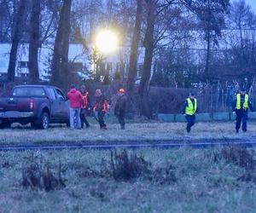
POLYGON ((68 102, 61 89, 45 85, 15 86, 12 95, 0 98, 0 128, 12 123, 48 129, 49 124, 68 124, 68 102))

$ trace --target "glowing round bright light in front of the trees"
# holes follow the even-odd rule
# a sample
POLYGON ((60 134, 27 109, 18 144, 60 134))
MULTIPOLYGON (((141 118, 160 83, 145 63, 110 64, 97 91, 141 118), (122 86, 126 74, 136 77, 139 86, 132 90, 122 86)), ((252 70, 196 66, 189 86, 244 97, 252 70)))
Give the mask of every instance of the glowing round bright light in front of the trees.
POLYGON ((115 32, 102 30, 96 35, 96 48, 104 54, 112 53, 118 48, 119 39, 115 32))

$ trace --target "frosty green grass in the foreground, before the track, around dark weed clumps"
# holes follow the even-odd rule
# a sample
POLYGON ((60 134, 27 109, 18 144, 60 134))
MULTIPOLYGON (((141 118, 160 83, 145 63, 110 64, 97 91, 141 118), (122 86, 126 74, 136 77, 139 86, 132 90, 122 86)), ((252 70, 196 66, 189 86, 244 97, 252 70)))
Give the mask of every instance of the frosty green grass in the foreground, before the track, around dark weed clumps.
MULTIPOLYGON (((88 166, 110 170, 109 151, 0 153, 0 211, 255 212, 255 182, 238 181, 246 173, 244 168, 224 158, 216 160, 220 148, 136 152, 151 162, 151 170, 172 164, 177 181, 160 185, 144 176, 115 181, 112 176, 84 175, 88 166), (48 193, 22 187, 22 168, 32 159, 49 164, 53 171, 61 162, 67 187, 48 193)), ((250 152, 254 157, 254 150, 250 152)))

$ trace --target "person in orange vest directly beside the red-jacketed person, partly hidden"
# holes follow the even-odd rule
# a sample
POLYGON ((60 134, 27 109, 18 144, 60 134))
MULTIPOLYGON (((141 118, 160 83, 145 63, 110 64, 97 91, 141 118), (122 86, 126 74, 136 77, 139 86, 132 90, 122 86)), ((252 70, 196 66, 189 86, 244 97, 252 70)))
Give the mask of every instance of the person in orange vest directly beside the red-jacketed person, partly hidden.
POLYGON ((86 119, 87 112, 88 110, 90 110, 90 99, 89 99, 89 92, 84 85, 80 87, 80 92, 84 99, 84 105, 81 107, 81 112, 80 112, 81 128, 83 129, 84 124, 86 125, 86 128, 90 127, 90 124, 86 119))

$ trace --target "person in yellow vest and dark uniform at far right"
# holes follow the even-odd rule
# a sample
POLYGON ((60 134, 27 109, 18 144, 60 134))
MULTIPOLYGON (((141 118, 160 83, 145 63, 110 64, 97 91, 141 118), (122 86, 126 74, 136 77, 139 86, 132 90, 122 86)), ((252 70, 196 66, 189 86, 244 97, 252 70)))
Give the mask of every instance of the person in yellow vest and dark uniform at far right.
POLYGON ((253 112, 252 104, 246 89, 240 89, 233 102, 233 114, 236 114, 236 133, 239 133, 240 127, 243 132, 247 131, 248 108, 253 112), (242 123, 242 124, 241 124, 242 123))

